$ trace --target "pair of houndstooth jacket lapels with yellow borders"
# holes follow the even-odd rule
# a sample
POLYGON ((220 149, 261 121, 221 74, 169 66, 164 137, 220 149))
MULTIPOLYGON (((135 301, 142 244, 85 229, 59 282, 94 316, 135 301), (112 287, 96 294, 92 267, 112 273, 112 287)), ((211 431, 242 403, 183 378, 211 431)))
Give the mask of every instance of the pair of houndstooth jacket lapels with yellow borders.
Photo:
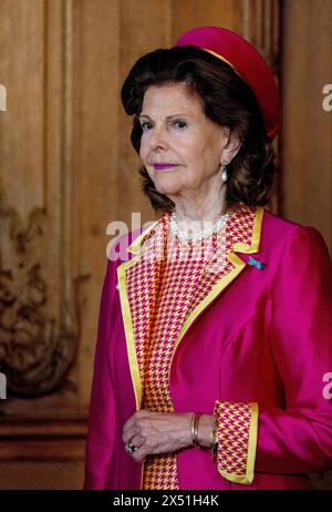
MULTIPOLYGON (((190 325, 246 267, 246 262, 236 253, 255 254, 259 250, 263 213, 264 209, 260 206, 241 206, 239 212, 230 217, 227 223, 226 257, 222 267, 216 272, 210 272, 210 267, 207 267, 200 287, 193 297, 191 308, 177 336, 173 356, 190 325)), ((149 339, 153 329, 154 311, 165 268, 163 258, 167 248, 168 225, 169 214, 164 214, 128 247, 127 250, 134 255, 133 258, 117 268, 121 307, 137 409, 142 403, 142 376, 145 375, 147 363, 146 340, 149 339)))

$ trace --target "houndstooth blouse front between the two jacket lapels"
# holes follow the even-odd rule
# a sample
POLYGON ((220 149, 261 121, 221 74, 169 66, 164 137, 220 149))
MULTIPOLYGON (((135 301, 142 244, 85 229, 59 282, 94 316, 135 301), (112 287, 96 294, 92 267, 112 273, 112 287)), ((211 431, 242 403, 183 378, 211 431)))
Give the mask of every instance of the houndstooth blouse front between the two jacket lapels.
MULTIPOLYGON (((168 222, 168 217, 167 221, 168 222)), ((190 308, 190 297, 203 273, 195 248, 180 254, 176 239, 167 243, 167 257, 160 268, 159 294, 152 337, 147 348, 143 407, 157 412, 174 412, 169 392, 169 368, 179 329, 190 308)), ((179 489, 175 453, 149 455, 144 467, 143 489, 179 489)))

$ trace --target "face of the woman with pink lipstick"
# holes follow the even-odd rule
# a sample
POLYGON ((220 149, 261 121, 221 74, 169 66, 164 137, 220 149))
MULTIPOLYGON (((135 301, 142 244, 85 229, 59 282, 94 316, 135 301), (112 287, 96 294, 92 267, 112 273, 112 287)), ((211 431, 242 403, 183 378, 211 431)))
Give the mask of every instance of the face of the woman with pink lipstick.
POLYGON ((212 123, 184 83, 147 89, 139 122, 139 156, 159 193, 181 195, 208 182, 221 184, 220 163, 230 161, 229 129, 212 123))

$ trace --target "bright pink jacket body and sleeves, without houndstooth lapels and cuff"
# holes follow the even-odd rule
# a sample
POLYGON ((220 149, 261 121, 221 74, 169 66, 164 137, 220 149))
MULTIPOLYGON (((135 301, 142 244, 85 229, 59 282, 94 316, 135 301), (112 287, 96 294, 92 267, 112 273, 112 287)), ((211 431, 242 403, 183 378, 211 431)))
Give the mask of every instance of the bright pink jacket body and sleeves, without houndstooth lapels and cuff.
MULTIPOLYGON (((137 235, 131 234, 132 252, 127 243, 124 257, 139 265, 137 235)), ((221 474, 209 451, 193 448, 177 454, 180 489, 309 489, 308 473, 332 468, 332 265, 326 246, 317 229, 259 207, 250 244, 235 244, 229 259, 228 278, 178 340, 169 387, 178 412, 211 414, 216 400, 258 403, 253 479, 249 485, 237 483, 221 474)), ((127 264, 107 262, 85 489, 141 489, 142 464, 122 441, 123 424, 139 408, 141 393, 126 308, 127 264)))

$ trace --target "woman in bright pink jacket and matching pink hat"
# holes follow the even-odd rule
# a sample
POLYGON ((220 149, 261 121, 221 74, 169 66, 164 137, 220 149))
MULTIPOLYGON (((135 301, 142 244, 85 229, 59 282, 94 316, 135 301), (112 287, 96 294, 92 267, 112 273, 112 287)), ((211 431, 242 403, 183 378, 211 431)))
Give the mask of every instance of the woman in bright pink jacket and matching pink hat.
POLYGON ((317 229, 264 208, 272 72, 197 28, 122 99, 162 216, 108 255, 85 488, 309 489, 332 465, 332 272, 317 229))

